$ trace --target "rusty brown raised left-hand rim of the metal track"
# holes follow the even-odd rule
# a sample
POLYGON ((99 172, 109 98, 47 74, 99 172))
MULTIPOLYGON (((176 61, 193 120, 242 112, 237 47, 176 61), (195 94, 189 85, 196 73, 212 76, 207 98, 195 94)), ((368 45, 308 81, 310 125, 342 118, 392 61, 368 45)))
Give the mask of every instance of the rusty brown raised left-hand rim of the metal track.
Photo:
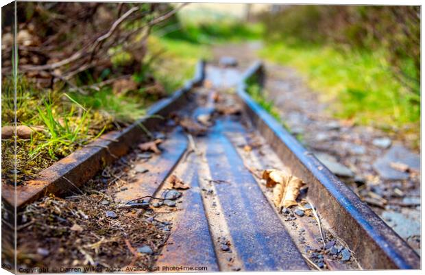
POLYGON ((146 117, 129 127, 104 134, 101 139, 97 139, 41 171, 36 180, 29 180, 16 187, 2 184, 2 201, 10 208, 21 208, 49 193, 56 195, 78 193, 80 184, 95 176, 99 169, 112 163, 117 157, 127 154, 136 143, 143 139, 145 132, 140 127, 141 124, 149 130, 154 130, 164 122, 158 116, 166 117, 171 111, 184 106, 187 93, 193 87, 202 84, 205 75, 204 67, 205 62, 199 62, 193 80, 186 82, 185 86, 171 97, 162 99, 151 106, 146 117))

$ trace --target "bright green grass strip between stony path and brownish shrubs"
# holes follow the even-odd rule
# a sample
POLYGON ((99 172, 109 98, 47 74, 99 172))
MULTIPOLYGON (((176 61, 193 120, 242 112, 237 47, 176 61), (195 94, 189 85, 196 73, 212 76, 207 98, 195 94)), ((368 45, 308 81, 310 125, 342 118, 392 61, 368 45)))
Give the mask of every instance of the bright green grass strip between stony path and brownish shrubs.
POLYGON ((260 55, 306 75, 309 86, 332 103, 336 117, 382 128, 406 124, 417 128, 420 96, 394 77, 383 52, 274 43, 262 49, 260 55))

